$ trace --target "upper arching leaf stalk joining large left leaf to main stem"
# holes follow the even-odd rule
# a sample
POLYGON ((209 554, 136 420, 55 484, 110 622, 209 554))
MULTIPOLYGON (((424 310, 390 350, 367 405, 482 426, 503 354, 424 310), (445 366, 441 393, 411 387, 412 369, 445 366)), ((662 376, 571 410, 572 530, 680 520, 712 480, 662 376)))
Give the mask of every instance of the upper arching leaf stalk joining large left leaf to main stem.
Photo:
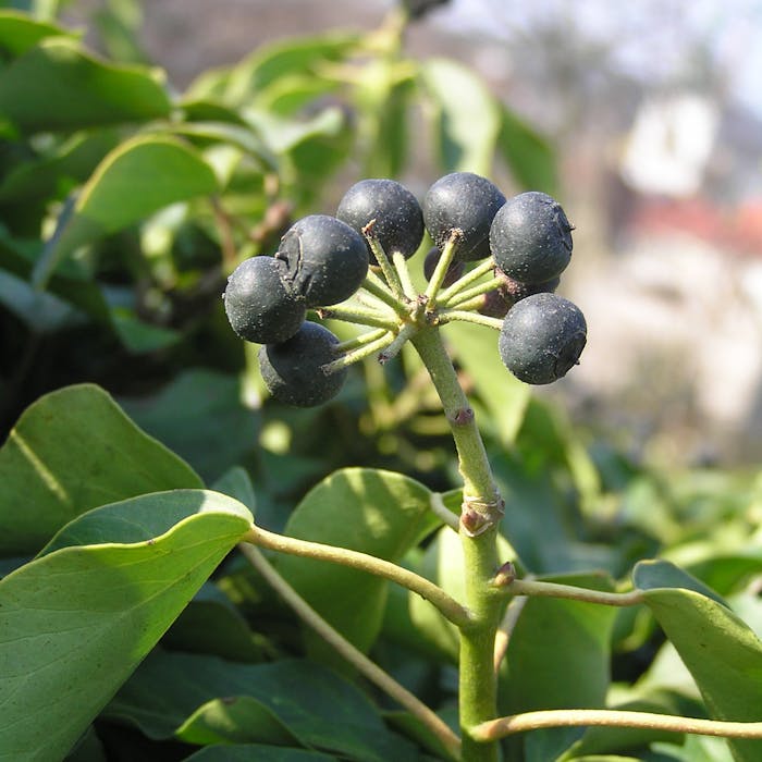
POLYGON ((256 526, 245 534, 244 541, 260 548, 280 551, 281 553, 291 553, 305 558, 330 561, 334 564, 342 564, 368 574, 374 574, 377 577, 383 577, 418 593, 457 627, 467 629, 471 625, 470 612, 454 598, 447 595, 442 588, 414 572, 393 564, 391 561, 377 558, 373 555, 358 551, 351 551, 346 548, 335 548, 334 545, 324 545, 320 542, 284 537, 256 526))

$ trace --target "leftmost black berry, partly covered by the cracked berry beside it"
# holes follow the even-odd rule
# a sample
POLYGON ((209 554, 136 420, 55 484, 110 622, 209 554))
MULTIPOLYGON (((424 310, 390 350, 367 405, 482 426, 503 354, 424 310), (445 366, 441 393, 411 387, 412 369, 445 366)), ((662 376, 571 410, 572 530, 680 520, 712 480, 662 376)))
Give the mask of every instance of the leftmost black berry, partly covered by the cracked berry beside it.
POLYGON ((293 336, 305 320, 305 302, 283 283, 283 262, 251 257, 231 273, 222 295, 228 320, 248 342, 267 344, 293 336))

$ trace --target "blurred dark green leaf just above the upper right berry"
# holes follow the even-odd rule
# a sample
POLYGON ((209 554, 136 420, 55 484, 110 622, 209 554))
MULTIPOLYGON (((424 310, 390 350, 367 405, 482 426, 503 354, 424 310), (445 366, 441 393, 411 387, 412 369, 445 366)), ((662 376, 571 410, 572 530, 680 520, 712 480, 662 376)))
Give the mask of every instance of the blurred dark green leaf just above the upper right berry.
POLYGON ((497 148, 514 179, 528 190, 558 192, 557 160, 546 137, 521 120, 514 111, 501 110, 497 148))

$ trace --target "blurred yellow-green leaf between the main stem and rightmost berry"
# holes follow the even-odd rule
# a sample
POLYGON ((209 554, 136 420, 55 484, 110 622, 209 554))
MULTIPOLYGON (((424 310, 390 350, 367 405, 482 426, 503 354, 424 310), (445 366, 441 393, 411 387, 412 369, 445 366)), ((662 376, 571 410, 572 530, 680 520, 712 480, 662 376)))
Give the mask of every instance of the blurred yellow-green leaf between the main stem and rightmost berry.
POLYGON ((479 423, 493 430, 504 445, 513 444, 524 422, 531 390, 501 361, 496 331, 458 322, 447 325, 444 335, 478 392, 482 414, 479 423))

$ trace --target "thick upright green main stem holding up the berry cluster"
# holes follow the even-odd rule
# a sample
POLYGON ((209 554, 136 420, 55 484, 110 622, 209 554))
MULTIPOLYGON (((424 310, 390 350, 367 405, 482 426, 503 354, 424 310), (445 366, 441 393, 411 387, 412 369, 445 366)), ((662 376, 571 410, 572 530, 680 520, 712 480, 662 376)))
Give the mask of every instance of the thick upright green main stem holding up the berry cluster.
POLYGON ((503 501, 492 477, 474 411, 437 328, 411 339, 439 393, 458 454, 464 482, 460 538, 466 570, 466 605, 472 624, 460 630, 458 705, 463 728, 463 759, 496 762, 497 745, 471 736, 470 729, 496 714, 497 684, 494 642, 503 609, 491 582, 499 567, 496 537, 503 501))

